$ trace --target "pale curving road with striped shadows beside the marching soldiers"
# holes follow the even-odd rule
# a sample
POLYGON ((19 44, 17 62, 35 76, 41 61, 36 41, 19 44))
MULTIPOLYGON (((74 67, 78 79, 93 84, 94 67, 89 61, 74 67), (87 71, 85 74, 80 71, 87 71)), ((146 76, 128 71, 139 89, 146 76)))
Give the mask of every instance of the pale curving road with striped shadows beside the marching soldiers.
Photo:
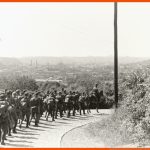
POLYGON ((30 128, 25 128, 23 124, 21 129, 17 128, 18 133, 7 137, 6 145, 0 147, 60 147, 61 138, 68 131, 98 121, 111 113, 112 110, 101 110, 99 114, 93 110, 91 114, 58 118, 55 122, 51 118, 46 121, 42 117, 39 127, 34 127, 34 123, 31 123, 30 128))

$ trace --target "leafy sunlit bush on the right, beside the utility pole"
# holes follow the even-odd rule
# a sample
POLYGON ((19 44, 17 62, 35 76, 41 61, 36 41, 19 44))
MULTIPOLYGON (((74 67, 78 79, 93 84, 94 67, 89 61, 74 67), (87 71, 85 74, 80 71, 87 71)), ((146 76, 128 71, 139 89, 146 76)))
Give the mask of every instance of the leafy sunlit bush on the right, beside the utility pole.
POLYGON ((114 114, 115 117, 112 116, 118 133, 125 130, 130 142, 138 146, 144 146, 150 139, 150 87, 145 82, 147 78, 137 71, 122 80, 121 106, 114 114))

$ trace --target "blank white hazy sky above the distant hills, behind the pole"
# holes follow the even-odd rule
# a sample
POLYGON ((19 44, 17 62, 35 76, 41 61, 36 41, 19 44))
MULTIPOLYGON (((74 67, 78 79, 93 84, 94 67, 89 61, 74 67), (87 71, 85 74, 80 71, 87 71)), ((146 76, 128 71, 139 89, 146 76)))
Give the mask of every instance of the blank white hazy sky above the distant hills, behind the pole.
MULTIPOLYGON (((113 55, 113 3, 0 3, 0 56, 113 55)), ((150 57, 150 3, 118 4, 120 56, 150 57)))

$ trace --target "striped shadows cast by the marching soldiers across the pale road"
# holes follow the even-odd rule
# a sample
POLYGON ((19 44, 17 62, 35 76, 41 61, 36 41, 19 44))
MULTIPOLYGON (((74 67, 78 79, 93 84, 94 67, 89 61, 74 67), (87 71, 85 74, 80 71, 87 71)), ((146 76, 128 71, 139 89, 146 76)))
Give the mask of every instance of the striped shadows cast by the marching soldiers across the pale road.
MULTIPOLYGON (((99 113, 99 114, 85 114, 85 115, 79 115, 71 116, 67 118, 66 116, 63 118, 56 119, 54 122, 51 121, 51 118, 49 118, 49 121, 46 121, 44 116, 40 119, 40 123, 38 127, 34 126, 34 121, 31 122, 31 126, 29 128, 25 127, 25 124, 22 126, 22 128, 17 128, 17 134, 12 134, 11 137, 8 137, 8 140, 6 141, 6 146, 9 147, 26 147, 26 148, 32 148, 35 147, 34 143, 39 139, 39 136, 41 135, 41 132, 44 131, 54 131, 59 130, 62 126, 67 128, 68 126, 71 126, 72 124, 78 124, 78 122, 85 120, 87 122, 88 119, 98 118, 98 116, 101 115, 108 115, 105 113, 99 113), (47 130, 48 129, 48 130, 47 130)), ((57 135, 56 135, 57 136, 57 135)), ((5 147, 5 146, 4 146, 5 147)))

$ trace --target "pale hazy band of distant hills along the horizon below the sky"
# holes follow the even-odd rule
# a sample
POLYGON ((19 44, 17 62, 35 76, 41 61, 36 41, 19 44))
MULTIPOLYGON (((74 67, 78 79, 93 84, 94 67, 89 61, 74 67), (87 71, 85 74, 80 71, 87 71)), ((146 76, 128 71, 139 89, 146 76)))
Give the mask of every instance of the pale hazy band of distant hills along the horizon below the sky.
MULTIPOLYGON (((119 64, 128 64, 150 60, 150 58, 138 57, 119 57, 119 64)), ((21 66, 21 65, 56 65, 63 63, 65 65, 112 65, 113 57, 0 57, 0 67, 4 66, 21 66)))

